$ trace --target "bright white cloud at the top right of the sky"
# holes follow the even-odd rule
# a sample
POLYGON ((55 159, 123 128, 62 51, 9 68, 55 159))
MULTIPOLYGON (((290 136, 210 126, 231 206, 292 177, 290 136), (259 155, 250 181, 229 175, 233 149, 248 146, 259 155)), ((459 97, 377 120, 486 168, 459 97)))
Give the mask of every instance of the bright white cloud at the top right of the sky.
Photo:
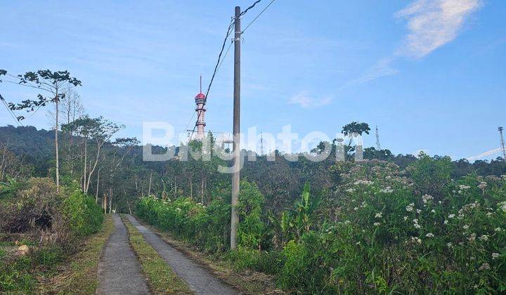
POLYGON ((396 13, 408 20, 409 34, 401 55, 422 58, 455 39, 480 0, 417 0, 396 13))

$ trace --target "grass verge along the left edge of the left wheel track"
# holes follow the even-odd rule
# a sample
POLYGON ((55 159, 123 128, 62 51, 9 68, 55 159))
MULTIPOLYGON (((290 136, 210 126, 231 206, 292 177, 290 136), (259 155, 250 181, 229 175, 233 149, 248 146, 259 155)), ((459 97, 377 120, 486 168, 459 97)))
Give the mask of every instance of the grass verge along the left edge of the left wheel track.
POLYGON ((104 218, 103 229, 84 240, 82 247, 58 270, 58 275, 42 279, 38 293, 95 294, 98 286, 98 262, 105 243, 115 230, 112 216, 104 218))

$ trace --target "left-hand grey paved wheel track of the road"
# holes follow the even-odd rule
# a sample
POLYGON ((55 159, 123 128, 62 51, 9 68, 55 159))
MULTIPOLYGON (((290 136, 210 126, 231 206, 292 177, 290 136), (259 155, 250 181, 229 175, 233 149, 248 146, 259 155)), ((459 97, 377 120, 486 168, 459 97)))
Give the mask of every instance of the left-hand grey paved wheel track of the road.
POLYGON ((126 227, 119 215, 112 216, 116 230, 105 245, 98 263, 97 294, 149 294, 126 227))

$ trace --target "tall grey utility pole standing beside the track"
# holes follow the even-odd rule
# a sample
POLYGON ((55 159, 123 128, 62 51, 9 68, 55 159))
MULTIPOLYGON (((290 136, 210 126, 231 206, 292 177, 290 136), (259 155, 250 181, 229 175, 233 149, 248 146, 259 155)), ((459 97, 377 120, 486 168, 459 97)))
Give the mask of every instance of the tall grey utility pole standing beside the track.
POLYGON ((237 205, 240 190, 240 7, 235 6, 234 35, 234 110, 233 110, 233 174, 232 174, 232 216, 231 216, 231 249, 237 246, 239 216, 237 205))

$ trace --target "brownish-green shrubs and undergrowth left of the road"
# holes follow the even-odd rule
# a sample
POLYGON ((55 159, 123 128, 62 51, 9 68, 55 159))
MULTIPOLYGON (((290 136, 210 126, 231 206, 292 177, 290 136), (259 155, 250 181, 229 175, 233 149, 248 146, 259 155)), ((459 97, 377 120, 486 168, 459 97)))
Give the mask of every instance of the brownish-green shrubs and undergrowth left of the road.
POLYGON ((71 187, 56 191, 49 178, 0 186, 0 291, 37 291, 82 237, 100 230, 103 215, 93 199, 71 187))

